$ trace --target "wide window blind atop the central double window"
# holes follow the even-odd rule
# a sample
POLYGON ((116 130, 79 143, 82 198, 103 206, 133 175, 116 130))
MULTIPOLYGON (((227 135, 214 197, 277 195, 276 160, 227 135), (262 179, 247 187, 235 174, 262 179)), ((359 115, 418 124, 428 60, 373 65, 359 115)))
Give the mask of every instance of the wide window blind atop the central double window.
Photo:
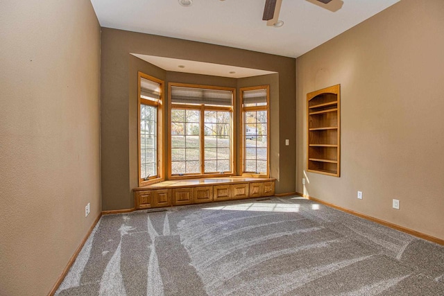
POLYGON ((171 103, 232 106, 232 96, 228 90, 171 87, 171 103))

